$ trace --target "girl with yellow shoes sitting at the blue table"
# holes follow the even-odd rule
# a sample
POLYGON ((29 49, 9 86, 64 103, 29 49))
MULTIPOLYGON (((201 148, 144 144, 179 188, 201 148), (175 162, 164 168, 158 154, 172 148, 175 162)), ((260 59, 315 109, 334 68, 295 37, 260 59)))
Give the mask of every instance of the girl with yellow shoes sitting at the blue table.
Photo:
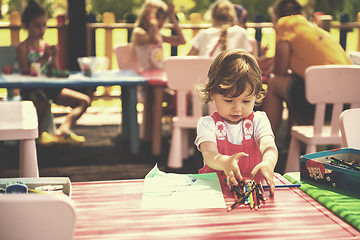
MULTIPOLYGON (((28 37, 19 43, 15 49, 17 64, 21 73, 29 73, 30 65, 33 62, 39 62, 43 69, 47 67, 57 68, 57 47, 49 46, 43 40, 46 21, 45 9, 38 2, 30 0, 21 15, 21 22, 24 28, 28 30, 28 37)), ((46 70, 42 72, 44 71, 46 70)), ((76 120, 90 105, 90 98, 87 95, 67 88, 46 88, 22 89, 21 97, 23 100, 31 100, 36 107, 39 122, 38 143, 43 145, 54 143, 81 144, 85 141, 84 137, 73 133, 71 127, 75 125, 76 120), (72 107, 65 121, 55 131, 55 137, 43 129, 50 99, 59 105, 72 107)))

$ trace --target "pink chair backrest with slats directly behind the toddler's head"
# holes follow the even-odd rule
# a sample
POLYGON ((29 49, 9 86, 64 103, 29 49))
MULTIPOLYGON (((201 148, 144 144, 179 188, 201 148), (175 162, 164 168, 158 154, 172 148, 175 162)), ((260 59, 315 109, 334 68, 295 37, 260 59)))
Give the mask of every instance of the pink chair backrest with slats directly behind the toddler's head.
POLYGON ((209 57, 170 57, 165 60, 165 71, 168 77, 168 87, 177 91, 177 116, 186 116, 186 95, 193 95, 193 117, 203 116, 202 102, 194 92, 195 85, 205 83, 210 65, 214 59, 209 57))

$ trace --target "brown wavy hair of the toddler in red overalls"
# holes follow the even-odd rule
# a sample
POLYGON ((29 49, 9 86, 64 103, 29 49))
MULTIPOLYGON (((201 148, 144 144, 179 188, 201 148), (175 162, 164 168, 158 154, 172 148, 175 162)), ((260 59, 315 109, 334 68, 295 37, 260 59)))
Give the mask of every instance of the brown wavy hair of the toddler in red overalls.
POLYGON ((227 98, 240 96, 250 87, 256 97, 255 105, 262 103, 266 91, 262 89, 261 71, 255 58, 243 50, 225 50, 214 59, 208 72, 208 82, 200 91, 203 102, 209 103, 210 94, 227 98))

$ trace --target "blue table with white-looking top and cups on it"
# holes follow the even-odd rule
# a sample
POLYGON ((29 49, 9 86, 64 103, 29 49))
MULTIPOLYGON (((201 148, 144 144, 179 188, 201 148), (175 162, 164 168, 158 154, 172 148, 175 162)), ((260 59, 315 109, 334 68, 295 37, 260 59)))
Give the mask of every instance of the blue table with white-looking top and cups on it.
POLYGON ((133 70, 97 71, 93 72, 91 77, 85 77, 81 72, 71 72, 69 78, 0 74, 0 88, 70 88, 120 85, 122 87, 122 136, 124 139, 130 140, 133 154, 139 150, 136 86, 145 83, 146 79, 133 70))

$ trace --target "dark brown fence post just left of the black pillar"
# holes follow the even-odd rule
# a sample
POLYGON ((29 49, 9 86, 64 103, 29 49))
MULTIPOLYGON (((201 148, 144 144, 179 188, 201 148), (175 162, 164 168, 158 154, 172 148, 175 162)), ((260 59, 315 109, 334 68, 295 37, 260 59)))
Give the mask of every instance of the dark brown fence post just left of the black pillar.
POLYGON ((67 44, 66 44, 66 26, 65 26, 65 14, 59 14, 56 16, 57 24, 58 24, 58 47, 59 47, 59 69, 64 70, 65 64, 67 64, 68 61, 66 61, 66 51, 67 44))

